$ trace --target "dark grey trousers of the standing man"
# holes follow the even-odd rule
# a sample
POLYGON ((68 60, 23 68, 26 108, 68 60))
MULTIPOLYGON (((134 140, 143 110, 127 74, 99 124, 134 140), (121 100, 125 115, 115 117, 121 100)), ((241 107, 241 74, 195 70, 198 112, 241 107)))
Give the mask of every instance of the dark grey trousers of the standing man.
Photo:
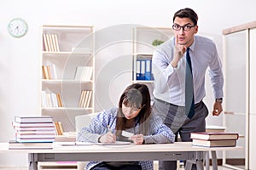
MULTIPOLYGON (((201 101, 195 105, 195 115, 189 119, 185 115, 185 107, 168 104, 159 99, 154 100, 153 111, 159 115, 167 127, 183 142, 191 141, 190 133, 206 131, 207 106, 201 101)), ((186 161, 184 161, 186 163, 186 161)), ((176 170, 177 161, 159 161, 159 170, 176 170)), ((195 164, 192 166, 195 170, 195 164)))

